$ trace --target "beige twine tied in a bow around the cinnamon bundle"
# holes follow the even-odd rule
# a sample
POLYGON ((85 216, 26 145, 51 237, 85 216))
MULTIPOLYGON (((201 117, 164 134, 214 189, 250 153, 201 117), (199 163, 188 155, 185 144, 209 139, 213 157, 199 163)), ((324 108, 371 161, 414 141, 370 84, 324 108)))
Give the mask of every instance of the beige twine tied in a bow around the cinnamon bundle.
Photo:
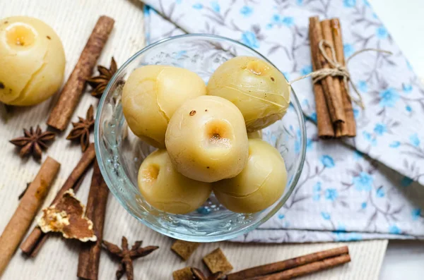
MULTIPOLYGON (((348 92, 349 97, 360 106, 362 109, 365 108, 365 105, 363 103, 363 97, 360 95, 360 92, 358 88, 355 86, 355 84, 351 80, 351 74, 348 71, 348 68, 346 66, 343 66, 341 63, 339 63, 336 59, 336 51, 334 50, 334 47, 332 44, 330 44, 328 41, 322 39, 319 41, 318 44, 319 51, 321 51, 322 56, 324 56, 324 59, 332 66, 332 68, 322 68, 320 70, 314 71, 312 73, 309 73, 307 75, 302 75, 299 78, 296 78, 295 80, 290 81, 290 85, 298 82, 299 80, 303 80, 308 77, 312 77, 312 83, 318 83, 322 79, 331 76, 331 77, 343 77, 344 86, 346 88, 346 92, 348 92), (329 57, 326 53, 325 47, 328 47, 331 51, 331 57, 329 57), (355 91, 356 97, 353 97, 351 95, 351 92, 349 90, 349 83, 352 85, 353 90, 355 91)), ((361 49, 360 51, 355 51, 351 56, 349 56, 348 59, 346 59, 346 64, 353 59, 353 57, 357 56, 360 53, 363 53, 365 51, 377 51, 384 54, 392 54, 391 51, 385 51, 384 49, 361 49)))

